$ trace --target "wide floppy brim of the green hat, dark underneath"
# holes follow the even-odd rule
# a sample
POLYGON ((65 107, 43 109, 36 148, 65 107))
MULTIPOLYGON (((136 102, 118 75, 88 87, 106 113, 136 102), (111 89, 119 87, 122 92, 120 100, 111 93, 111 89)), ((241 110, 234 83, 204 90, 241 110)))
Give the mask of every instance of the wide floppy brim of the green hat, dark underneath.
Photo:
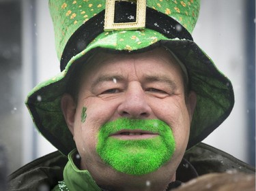
MULTIPOLYGON (((122 52, 145 52, 156 46, 168 48, 184 63, 191 90, 197 94, 197 106, 190 127, 188 148, 199 143, 229 116, 234 96, 231 82, 216 69, 212 60, 195 44, 186 39, 167 39, 151 29, 144 31, 104 32, 89 46, 74 56, 61 73, 38 84, 26 105, 38 131, 59 151, 67 155, 76 147, 61 111, 61 97, 80 59, 87 60, 98 48, 122 52)), ((86 62, 84 62, 86 64, 86 62)))

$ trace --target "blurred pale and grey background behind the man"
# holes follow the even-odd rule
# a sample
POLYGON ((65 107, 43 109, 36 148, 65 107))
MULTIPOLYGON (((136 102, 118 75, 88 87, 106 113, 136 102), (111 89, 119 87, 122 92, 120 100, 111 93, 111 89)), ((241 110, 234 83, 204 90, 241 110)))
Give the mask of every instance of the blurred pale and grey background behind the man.
MULTIPOLYGON (((194 40, 233 83, 229 118, 203 142, 255 165, 255 1, 201 0, 194 40)), ((34 128, 24 101, 59 72, 44 0, 0 0, 0 145, 12 173, 55 151, 34 128)))

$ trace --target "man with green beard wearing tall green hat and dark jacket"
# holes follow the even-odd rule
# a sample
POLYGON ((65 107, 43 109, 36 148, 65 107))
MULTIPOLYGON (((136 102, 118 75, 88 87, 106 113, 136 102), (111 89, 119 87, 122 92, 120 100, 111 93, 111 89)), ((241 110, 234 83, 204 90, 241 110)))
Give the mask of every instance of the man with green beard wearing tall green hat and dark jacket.
POLYGON ((61 73, 27 106, 63 156, 16 171, 13 190, 171 190, 205 173, 254 171, 199 143, 233 107, 231 82, 190 35, 199 1, 49 6, 61 73))

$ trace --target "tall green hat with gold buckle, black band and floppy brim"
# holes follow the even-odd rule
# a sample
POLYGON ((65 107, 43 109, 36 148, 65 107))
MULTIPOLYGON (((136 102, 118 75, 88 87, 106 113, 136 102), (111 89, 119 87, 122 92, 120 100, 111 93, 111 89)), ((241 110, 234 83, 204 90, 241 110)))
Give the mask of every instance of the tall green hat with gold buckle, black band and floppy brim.
POLYGON ((229 116, 234 97, 231 82, 190 35, 199 6, 199 0, 50 0, 61 73, 28 95, 26 104, 38 131, 63 154, 74 149, 60 100, 79 60, 99 48, 143 52, 164 46, 184 63, 197 93, 188 148, 202 141, 229 116))

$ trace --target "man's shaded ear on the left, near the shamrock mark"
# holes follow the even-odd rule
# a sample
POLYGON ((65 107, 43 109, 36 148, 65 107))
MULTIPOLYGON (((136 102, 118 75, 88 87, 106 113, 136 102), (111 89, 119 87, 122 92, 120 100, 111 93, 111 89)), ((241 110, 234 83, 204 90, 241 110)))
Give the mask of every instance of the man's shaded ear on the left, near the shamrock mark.
POLYGON ((76 103, 70 94, 63 94, 61 98, 61 110, 68 128, 74 135, 74 115, 76 114, 76 103))

